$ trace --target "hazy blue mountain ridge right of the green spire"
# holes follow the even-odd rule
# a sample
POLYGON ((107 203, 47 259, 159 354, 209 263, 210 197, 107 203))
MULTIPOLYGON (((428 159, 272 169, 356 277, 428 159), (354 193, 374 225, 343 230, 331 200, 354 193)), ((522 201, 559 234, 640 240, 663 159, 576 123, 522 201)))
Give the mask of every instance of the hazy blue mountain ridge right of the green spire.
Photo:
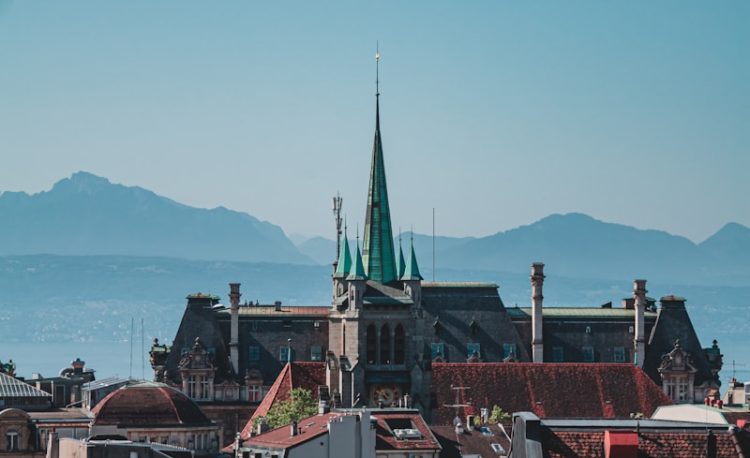
MULTIPOLYGON (((415 245, 423 262, 431 262, 429 237, 416 237, 415 245)), ((436 245, 438 271, 520 272, 541 261, 550 274, 566 277, 750 285, 750 229, 736 223, 695 244, 580 213, 554 214, 491 236, 459 239, 445 247, 437 240, 436 245)))

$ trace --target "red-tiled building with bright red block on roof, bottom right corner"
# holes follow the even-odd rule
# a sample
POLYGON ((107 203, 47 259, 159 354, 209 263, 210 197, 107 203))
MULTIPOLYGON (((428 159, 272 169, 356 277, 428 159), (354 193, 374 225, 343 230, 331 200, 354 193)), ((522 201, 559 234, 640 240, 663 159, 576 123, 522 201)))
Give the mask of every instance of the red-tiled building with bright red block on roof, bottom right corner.
POLYGON ((750 432, 726 425, 649 419, 540 419, 513 415, 509 456, 737 458, 750 452, 750 432))

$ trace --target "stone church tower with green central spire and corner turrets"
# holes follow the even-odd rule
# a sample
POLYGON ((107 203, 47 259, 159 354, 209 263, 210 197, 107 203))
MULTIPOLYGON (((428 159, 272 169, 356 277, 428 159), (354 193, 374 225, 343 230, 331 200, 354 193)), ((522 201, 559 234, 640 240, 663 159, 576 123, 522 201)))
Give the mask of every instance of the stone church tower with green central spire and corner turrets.
POLYGON ((396 263, 380 135, 380 93, 376 94, 361 251, 359 238, 356 245, 352 259, 344 235, 333 275, 326 378, 334 402, 352 407, 415 399, 415 394, 425 391, 422 276, 413 244, 409 261, 404 262, 400 251, 396 263))

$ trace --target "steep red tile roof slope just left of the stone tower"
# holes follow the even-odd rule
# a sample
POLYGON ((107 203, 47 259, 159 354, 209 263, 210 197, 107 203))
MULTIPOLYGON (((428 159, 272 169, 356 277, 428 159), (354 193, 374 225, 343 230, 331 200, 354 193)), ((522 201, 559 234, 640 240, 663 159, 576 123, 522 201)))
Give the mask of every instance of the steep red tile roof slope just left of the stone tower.
POLYGON ((326 384, 326 371, 324 362, 299 361, 287 363, 279 376, 271 385, 266 396, 250 421, 247 422, 242 430, 242 438, 247 439, 253 429, 253 421, 256 418, 265 417, 268 411, 280 401, 286 401, 292 394, 294 388, 304 388, 310 391, 313 397, 318 396, 318 387, 326 384))

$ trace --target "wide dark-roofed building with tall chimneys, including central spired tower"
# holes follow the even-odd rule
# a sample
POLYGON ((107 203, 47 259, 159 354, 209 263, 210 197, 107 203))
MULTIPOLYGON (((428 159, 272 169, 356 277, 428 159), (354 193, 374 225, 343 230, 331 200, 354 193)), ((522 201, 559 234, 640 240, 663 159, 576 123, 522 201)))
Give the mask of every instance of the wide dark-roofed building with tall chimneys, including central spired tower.
POLYGON ((576 309, 543 306, 541 263, 531 269, 530 308, 506 308, 496 284, 424 281, 414 247, 404 256, 394 244, 385 171, 378 93, 364 238, 352 249, 346 228, 338 233, 331 303, 241 303, 231 283, 228 308, 188 296, 173 344, 152 347, 156 379, 215 409, 225 439, 289 361, 325 362, 337 407, 395 405, 408 394, 427 418, 433 363, 628 363, 673 402, 718 388, 718 345, 700 346, 684 299, 664 297, 657 310, 645 280, 621 307, 576 309))

